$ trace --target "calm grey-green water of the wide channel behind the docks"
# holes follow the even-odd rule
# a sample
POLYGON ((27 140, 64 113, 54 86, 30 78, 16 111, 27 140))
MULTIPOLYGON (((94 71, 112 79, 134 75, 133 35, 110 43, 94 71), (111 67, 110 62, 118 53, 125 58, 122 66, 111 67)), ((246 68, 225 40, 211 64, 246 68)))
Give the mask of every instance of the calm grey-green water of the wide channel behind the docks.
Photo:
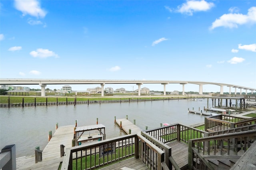
POLYGON ((76 119, 78 126, 85 126, 96 124, 98 117, 106 126, 107 139, 124 135, 114 124, 114 116, 122 119, 128 115, 128 120, 136 119, 141 129, 160 127, 160 123, 194 125, 204 122, 204 116, 188 113, 188 108, 198 111, 204 106, 207 99, 0 108, 0 148, 16 144, 17 158, 32 155, 36 146, 44 149, 48 131, 54 133, 57 122, 59 127, 74 125, 76 119))

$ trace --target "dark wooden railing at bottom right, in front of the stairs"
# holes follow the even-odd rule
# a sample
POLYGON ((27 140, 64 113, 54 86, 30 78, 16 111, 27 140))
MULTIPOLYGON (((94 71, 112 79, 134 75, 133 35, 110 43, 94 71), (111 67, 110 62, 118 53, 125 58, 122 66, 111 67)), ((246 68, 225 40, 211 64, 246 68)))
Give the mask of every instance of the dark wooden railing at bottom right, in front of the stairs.
POLYGON ((206 158, 238 159, 255 141, 256 130, 191 139, 188 143, 188 168, 213 169, 206 158), (240 150, 243 150, 242 154, 238 153, 240 150))

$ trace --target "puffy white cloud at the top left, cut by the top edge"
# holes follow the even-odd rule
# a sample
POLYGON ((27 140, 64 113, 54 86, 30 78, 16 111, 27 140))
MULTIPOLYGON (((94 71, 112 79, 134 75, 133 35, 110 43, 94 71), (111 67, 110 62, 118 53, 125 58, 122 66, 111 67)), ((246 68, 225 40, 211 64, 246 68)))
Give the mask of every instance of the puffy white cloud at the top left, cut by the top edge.
POLYGON ((15 0, 14 6, 17 10, 22 12, 22 15, 31 15, 37 18, 44 18, 46 11, 40 7, 37 0, 15 0))

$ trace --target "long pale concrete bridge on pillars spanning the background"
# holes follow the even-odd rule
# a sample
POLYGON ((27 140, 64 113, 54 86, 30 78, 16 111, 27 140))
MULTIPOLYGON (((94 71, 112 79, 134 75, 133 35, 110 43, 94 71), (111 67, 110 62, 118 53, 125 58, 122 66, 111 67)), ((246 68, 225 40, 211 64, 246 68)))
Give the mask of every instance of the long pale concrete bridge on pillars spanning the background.
POLYGON ((240 94, 242 94, 242 89, 251 90, 253 93, 256 88, 249 88, 238 86, 234 84, 216 83, 216 82, 200 82, 200 81, 174 81, 174 80, 80 80, 80 79, 16 79, 16 78, 1 78, 0 84, 10 84, 10 85, 36 85, 41 86, 41 94, 45 96, 45 87, 47 84, 100 84, 101 85, 101 96, 104 96, 104 85, 105 84, 136 84, 138 85, 138 96, 140 96, 140 86, 142 84, 162 84, 164 85, 164 96, 166 95, 166 84, 181 84, 182 85, 182 95, 185 94, 185 84, 197 84, 199 85, 199 95, 203 94, 203 85, 213 84, 220 86, 220 94, 223 94, 223 86, 229 87, 229 94, 231 94, 231 88, 240 89, 240 94))

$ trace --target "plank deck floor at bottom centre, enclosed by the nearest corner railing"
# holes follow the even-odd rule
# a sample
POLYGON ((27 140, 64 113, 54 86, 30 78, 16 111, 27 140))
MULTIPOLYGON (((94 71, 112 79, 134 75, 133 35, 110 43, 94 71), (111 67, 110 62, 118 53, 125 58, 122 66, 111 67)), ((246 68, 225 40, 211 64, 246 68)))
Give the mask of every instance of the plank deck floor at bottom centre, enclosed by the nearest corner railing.
POLYGON ((148 170, 149 168, 142 162, 141 159, 129 158, 112 164, 110 166, 100 168, 100 170, 148 170))

